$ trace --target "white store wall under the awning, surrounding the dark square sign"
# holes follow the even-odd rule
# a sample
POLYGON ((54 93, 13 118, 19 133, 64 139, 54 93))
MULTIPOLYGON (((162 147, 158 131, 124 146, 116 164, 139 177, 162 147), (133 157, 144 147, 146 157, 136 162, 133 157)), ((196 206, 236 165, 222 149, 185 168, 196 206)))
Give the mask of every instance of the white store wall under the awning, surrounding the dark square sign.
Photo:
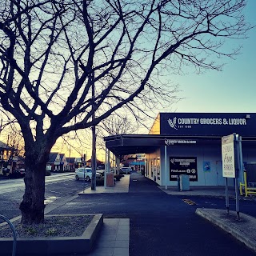
MULTIPOLYGON (((256 162, 256 149, 242 147, 242 154, 243 162, 256 162)), ((170 156, 197 158, 198 181, 190 182, 190 186, 225 186, 225 179, 222 177, 221 146, 167 146, 167 175, 165 174, 165 148, 161 146, 161 150, 158 148, 153 154, 146 154, 146 166, 149 168, 146 177, 157 182, 158 185, 166 186, 167 176, 167 186, 177 186, 177 181, 170 181, 170 156), (156 160, 159 156, 160 161, 156 160), (204 171, 204 161, 210 162, 210 171, 204 171), (157 163, 160 165, 160 171, 157 163), (157 173, 160 173, 160 177, 157 173)), ((234 186, 233 178, 228 178, 228 185, 234 186)))

